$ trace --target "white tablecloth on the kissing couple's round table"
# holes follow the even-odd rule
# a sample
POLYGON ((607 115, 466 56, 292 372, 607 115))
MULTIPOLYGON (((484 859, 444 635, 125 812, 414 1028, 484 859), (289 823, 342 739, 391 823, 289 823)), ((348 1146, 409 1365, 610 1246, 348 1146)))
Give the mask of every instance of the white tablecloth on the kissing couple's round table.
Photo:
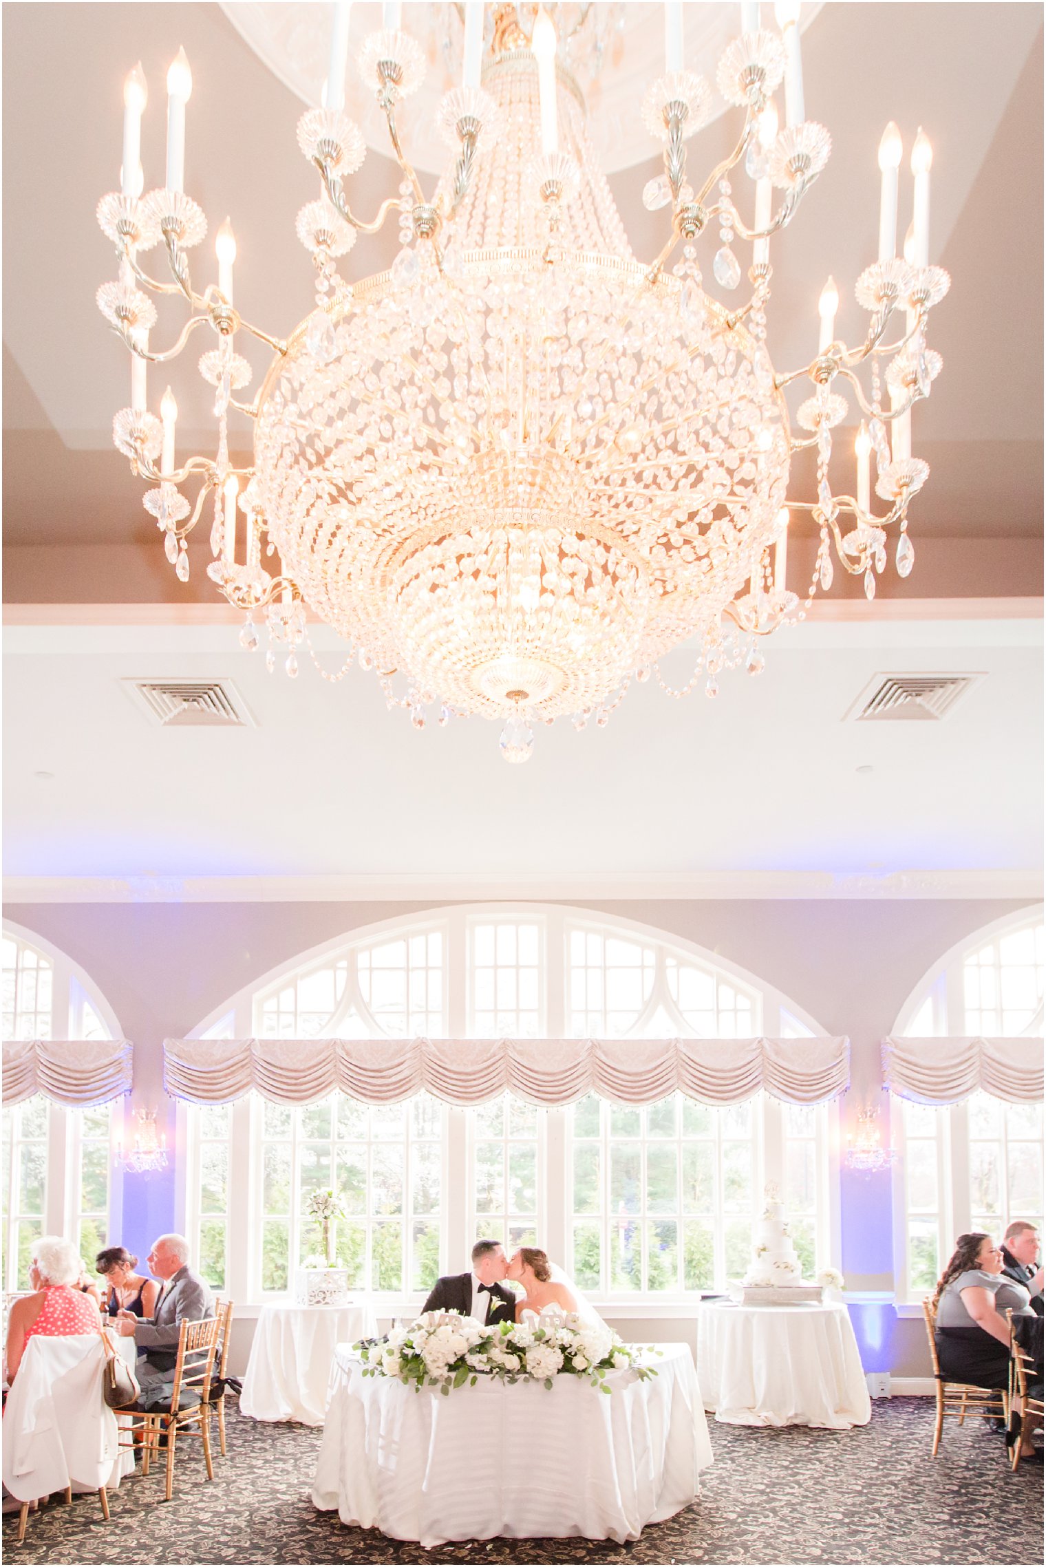
POLYGON ((658 1376, 509 1387, 404 1387, 338 1348, 312 1500, 343 1523, 431 1548, 445 1540, 634 1540, 698 1493, 712 1462, 694 1360, 661 1344, 658 1376))

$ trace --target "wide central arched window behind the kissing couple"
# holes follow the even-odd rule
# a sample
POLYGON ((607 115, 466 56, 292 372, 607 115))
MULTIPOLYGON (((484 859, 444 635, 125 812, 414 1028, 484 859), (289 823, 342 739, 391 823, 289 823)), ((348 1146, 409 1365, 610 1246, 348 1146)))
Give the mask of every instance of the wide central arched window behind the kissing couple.
MULTIPOLYGON (((752 1037, 822 1033, 722 959, 581 909, 479 904, 388 921, 301 954, 222 1003, 208 1037, 752 1037)), ((828 1109, 593 1095, 457 1109, 241 1100, 185 1111, 185 1224, 215 1285, 260 1302, 318 1250, 310 1191, 334 1186, 357 1288, 417 1304, 478 1236, 548 1246, 619 1308, 736 1282, 766 1180, 810 1269, 830 1260, 828 1109), (243 1172, 233 1178, 232 1172, 243 1172)), ((391 1308, 391 1305, 390 1305, 391 1308)))

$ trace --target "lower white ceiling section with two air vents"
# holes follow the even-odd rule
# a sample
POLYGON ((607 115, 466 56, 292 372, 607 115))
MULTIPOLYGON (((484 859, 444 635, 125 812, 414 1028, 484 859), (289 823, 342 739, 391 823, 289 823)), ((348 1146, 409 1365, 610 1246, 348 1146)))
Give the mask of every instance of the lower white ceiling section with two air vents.
MULTIPOLYGON (((606 729, 539 729, 512 768, 492 724, 418 733, 385 711, 373 675, 335 688, 308 664, 298 680, 268 675, 224 627, 11 627, 5 870, 1035 870, 1038 633, 1021 619, 797 627, 774 638, 758 679, 723 675, 714 702, 650 682, 606 729), (880 671, 985 679, 940 722, 846 721, 880 671), (257 727, 152 727, 121 682, 174 674, 233 680, 257 727)), ((337 669, 334 649, 323 661, 337 669)))

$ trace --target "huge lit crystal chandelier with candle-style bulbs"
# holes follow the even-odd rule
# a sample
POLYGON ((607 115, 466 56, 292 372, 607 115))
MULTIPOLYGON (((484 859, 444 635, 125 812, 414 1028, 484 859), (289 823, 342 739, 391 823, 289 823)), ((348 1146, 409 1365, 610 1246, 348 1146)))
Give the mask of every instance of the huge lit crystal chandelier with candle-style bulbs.
MULTIPOLYGON (((285 340, 233 306, 227 223, 216 235, 218 285, 197 293, 191 282, 189 251, 207 223, 183 191, 185 55, 168 72, 166 182, 146 196, 146 81, 141 67, 127 78, 122 188, 99 205, 119 277, 97 302, 132 351, 132 406, 114 418, 114 442, 152 484, 144 505, 179 578, 189 575, 186 541, 211 497, 208 575, 246 611, 246 647, 258 646, 262 621, 269 669, 280 649, 298 674, 302 642, 315 660, 310 614, 349 644, 337 674, 321 669, 326 679, 359 658, 418 729, 429 708, 440 724, 498 719, 503 754, 520 762, 536 722, 603 726, 629 682, 651 672, 670 689, 659 660, 683 642, 695 649, 683 691, 705 679, 716 696, 720 669, 739 663, 758 674, 759 639, 803 617, 830 588, 833 559, 864 578, 871 599, 896 534, 907 577, 908 503, 929 473, 911 456, 910 411, 941 368, 925 326, 949 287, 929 265, 922 132, 904 259, 897 127, 880 143, 878 259, 855 290, 867 312, 863 342, 836 335, 828 279, 817 353, 781 373, 766 346, 770 244, 831 147, 805 118, 794 0, 775 8, 780 31, 759 24, 758 5, 739 6, 741 36, 716 83, 742 124, 733 152, 702 176, 687 168, 687 139, 712 114, 712 88, 684 67, 681 5, 664 8, 665 71, 642 105, 664 147, 664 174, 644 191, 650 210, 665 212, 662 249, 648 262, 631 254, 546 11, 496 6, 484 38, 484 6, 465 5, 462 86, 438 110, 446 171, 426 196, 396 122, 424 60, 399 6, 384 9, 359 72, 385 116, 399 190, 366 219, 346 194, 365 143, 343 108, 349 8, 338 5, 324 107, 298 125, 319 174, 319 196, 296 223, 316 302, 285 340), (391 270, 346 282, 335 263, 390 213, 401 240, 391 270), (168 282, 142 270, 157 244, 168 282), (745 290, 739 244, 752 257, 745 290), (149 342, 152 291, 189 306, 163 351, 149 342), (177 404, 168 389, 161 417, 149 411, 146 365, 175 357, 199 326, 216 337, 199 360, 216 389, 216 451, 177 464, 177 404), (252 379, 238 353, 244 337, 272 349, 249 404, 236 396, 252 379), (861 415, 852 481, 849 461, 838 453, 831 464, 850 401, 861 415), (249 469, 230 464, 230 417, 254 425, 249 469), (816 494, 789 498, 792 453, 808 447, 816 494), (852 494, 838 489, 844 465, 852 494), (794 511, 813 514, 821 544, 811 581, 789 588, 794 511), (274 552, 279 574, 263 564, 274 552)), ((551 8, 564 27, 570 13, 583 25, 589 9, 551 8)), ((453 20, 454 8, 446 13, 453 20)))

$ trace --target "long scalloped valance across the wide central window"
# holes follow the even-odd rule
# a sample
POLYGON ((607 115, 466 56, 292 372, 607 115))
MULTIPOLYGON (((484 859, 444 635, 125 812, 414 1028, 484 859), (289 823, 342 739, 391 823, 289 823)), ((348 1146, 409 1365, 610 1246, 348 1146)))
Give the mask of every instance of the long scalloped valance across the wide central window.
POLYGON ((650 1105, 676 1089, 736 1105, 764 1089, 795 1105, 835 1098, 850 1080, 849 1039, 166 1039, 175 1098, 222 1103, 257 1092, 304 1105, 340 1089, 370 1105, 427 1092, 481 1105, 510 1092, 567 1105, 595 1092, 650 1105))

